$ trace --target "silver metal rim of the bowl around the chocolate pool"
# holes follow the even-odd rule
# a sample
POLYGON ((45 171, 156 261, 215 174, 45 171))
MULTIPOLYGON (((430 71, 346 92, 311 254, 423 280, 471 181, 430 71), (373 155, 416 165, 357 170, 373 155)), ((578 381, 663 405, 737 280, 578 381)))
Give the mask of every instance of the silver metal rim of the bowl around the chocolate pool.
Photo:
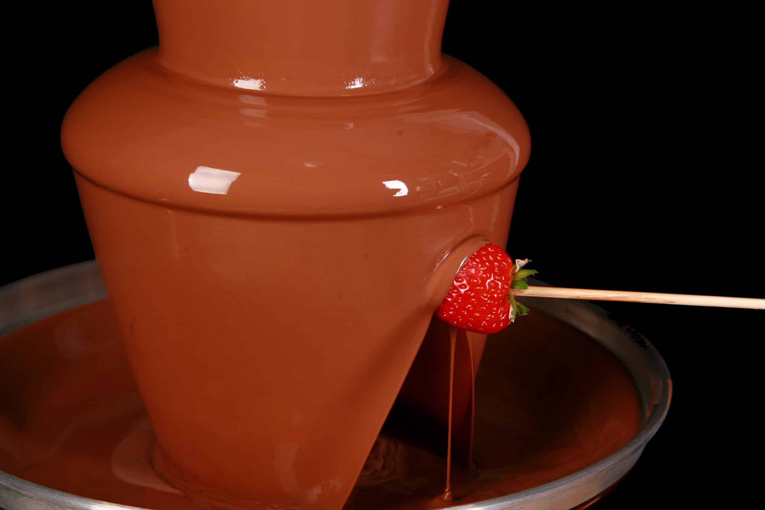
MULTIPOLYGON (((534 284, 543 284, 535 281, 534 284)), ((47 271, 0 287, 0 336, 28 323, 106 297, 95 261, 47 271)), ((534 308, 587 333, 620 359, 633 378, 646 419, 627 444, 577 473, 522 492, 445 510, 568 510, 618 482, 636 463, 664 421, 672 379, 659 352, 640 333, 594 305, 537 298, 534 308)), ((67 494, 0 472, 5 510, 145 510, 67 494)))

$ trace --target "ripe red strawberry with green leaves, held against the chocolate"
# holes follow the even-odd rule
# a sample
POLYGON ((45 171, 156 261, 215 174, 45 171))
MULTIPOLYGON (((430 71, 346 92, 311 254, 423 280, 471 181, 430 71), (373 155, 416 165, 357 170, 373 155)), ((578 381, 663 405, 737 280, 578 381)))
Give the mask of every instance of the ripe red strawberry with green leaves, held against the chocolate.
POLYGON ((444 322, 475 333, 496 333, 526 315, 529 309, 516 301, 513 290, 528 288, 522 269, 528 260, 516 260, 497 245, 487 244, 462 265, 436 314, 444 322))

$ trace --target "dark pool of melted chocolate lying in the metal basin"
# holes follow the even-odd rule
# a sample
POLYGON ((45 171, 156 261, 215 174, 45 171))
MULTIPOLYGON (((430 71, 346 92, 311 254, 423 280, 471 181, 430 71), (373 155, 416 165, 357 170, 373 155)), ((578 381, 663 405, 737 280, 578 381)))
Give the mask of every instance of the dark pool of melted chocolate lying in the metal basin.
MULTIPOLYGON (((458 337, 446 352, 461 355, 458 337)), ((490 337, 481 363, 475 466, 455 459, 453 500, 444 499, 448 426, 399 399, 344 510, 444 508, 529 489, 601 460, 640 426, 620 362, 543 313, 490 337)), ((0 470, 123 505, 203 508, 154 473, 154 443, 106 302, 0 339, 0 470)))

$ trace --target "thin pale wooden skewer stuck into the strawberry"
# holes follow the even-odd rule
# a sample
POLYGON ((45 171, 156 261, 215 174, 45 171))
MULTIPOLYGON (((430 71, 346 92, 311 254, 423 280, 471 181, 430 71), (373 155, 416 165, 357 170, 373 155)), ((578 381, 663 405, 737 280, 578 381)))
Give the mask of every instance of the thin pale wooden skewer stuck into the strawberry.
POLYGON ((755 297, 698 296, 695 294, 660 294, 659 292, 595 291, 565 287, 529 286, 513 291, 518 297, 562 297, 600 301, 630 301, 632 303, 689 304, 697 307, 752 308, 765 310, 765 299, 755 297))

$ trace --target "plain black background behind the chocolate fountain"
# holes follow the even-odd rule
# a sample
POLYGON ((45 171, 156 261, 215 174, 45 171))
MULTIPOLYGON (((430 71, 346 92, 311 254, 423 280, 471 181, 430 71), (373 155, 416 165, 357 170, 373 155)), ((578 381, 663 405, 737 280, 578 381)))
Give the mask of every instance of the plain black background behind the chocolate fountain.
MULTIPOLYGON (((497 83, 532 132, 510 255, 564 287, 765 297, 754 14, 514 4, 453 0, 444 34, 444 51, 497 83)), ((157 43, 148 0, 16 9, 0 284, 93 258, 60 121, 96 76, 157 43)), ((604 307, 662 352, 675 395, 600 508, 735 506, 741 460, 762 450, 751 362, 765 313, 604 307)))

